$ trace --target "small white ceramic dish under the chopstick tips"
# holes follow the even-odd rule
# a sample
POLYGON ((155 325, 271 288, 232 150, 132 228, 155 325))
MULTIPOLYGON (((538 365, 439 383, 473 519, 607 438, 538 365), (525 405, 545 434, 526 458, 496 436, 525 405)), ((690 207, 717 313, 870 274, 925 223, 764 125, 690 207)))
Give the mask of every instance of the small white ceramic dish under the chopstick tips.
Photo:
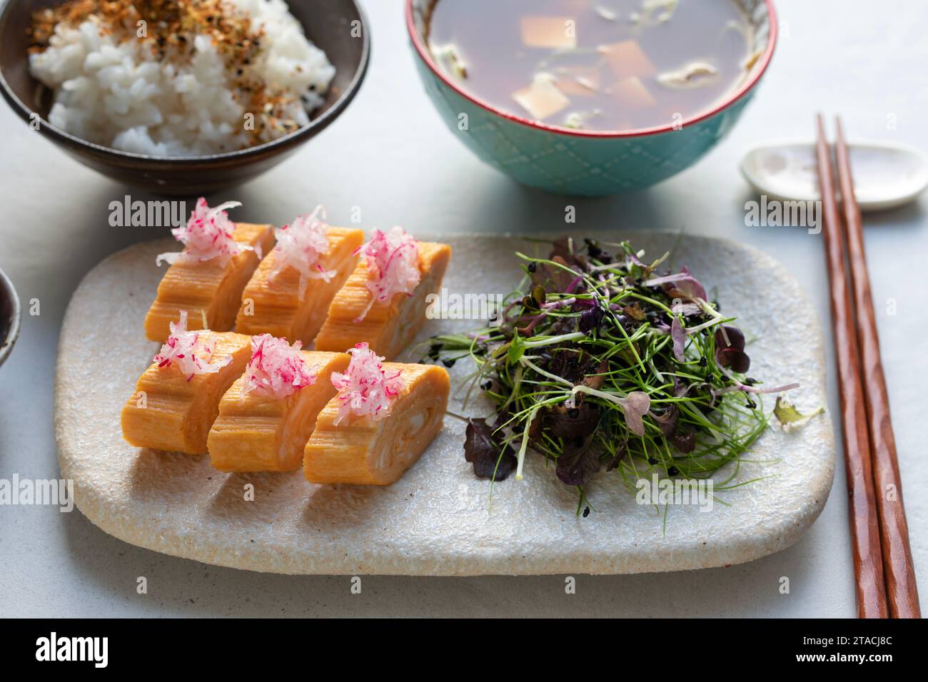
MULTIPOLYGON (((928 154, 897 143, 850 143, 851 172, 861 211, 884 211, 909 203, 928 187, 928 154)), ((815 146, 809 140, 781 140, 750 149, 741 174, 771 199, 816 200, 815 146)))

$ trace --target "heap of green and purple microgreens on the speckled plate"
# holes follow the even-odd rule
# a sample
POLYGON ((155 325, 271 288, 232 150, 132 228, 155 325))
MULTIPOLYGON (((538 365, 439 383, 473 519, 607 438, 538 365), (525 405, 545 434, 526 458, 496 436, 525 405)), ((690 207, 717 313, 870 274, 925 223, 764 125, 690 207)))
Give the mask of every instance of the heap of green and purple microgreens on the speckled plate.
MULTIPOLYGON (((708 478, 767 429, 761 396, 798 386, 746 376, 735 317, 687 268, 659 272, 669 254, 646 263, 628 242, 562 238, 547 259, 517 255, 522 284, 491 324, 436 336, 428 353, 446 367, 472 361, 471 388, 495 407, 467 420, 464 455, 480 478, 522 478, 529 449, 581 501, 600 470, 629 486, 652 474, 708 478)), ((736 473, 715 489, 740 484, 736 473)))

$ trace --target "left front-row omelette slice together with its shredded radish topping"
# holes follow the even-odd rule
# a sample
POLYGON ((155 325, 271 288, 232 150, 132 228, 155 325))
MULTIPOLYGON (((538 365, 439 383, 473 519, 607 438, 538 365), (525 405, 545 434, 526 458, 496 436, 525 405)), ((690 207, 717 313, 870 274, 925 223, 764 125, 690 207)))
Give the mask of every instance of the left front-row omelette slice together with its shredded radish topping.
POLYGON ((201 455, 219 401, 245 371, 251 338, 231 331, 187 330, 187 314, 122 407, 122 437, 136 447, 201 455))

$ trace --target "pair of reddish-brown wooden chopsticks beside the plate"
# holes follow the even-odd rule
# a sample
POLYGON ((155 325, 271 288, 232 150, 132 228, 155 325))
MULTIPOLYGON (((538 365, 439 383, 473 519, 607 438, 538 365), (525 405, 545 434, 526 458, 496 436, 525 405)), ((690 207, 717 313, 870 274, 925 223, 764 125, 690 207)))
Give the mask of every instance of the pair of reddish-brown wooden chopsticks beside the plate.
POLYGON ((831 323, 841 392, 857 613, 861 618, 921 618, 896 438, 870 294, 863 220, 854 195, 840 117, 836 125, 834 159, 843 214, 835 197, 831 149, 820 114, 816 159, 825 219, 825 258, 831 280, 831 323))

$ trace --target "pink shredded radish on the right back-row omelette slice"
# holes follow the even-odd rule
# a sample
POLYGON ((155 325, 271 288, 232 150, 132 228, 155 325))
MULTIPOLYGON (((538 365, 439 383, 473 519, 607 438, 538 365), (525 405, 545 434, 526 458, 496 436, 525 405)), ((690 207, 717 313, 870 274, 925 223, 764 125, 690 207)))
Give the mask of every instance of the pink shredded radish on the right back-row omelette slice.
POLYGON ((402 227, 389 232, 374 230, 370 241, 358 251, 367 264, 367 289, 374 298, 365 311, 354 320, 360 322, 374 302, 389 302, 397 293, 411 295, 419 286, 419 242, 406 234, 402 227))

